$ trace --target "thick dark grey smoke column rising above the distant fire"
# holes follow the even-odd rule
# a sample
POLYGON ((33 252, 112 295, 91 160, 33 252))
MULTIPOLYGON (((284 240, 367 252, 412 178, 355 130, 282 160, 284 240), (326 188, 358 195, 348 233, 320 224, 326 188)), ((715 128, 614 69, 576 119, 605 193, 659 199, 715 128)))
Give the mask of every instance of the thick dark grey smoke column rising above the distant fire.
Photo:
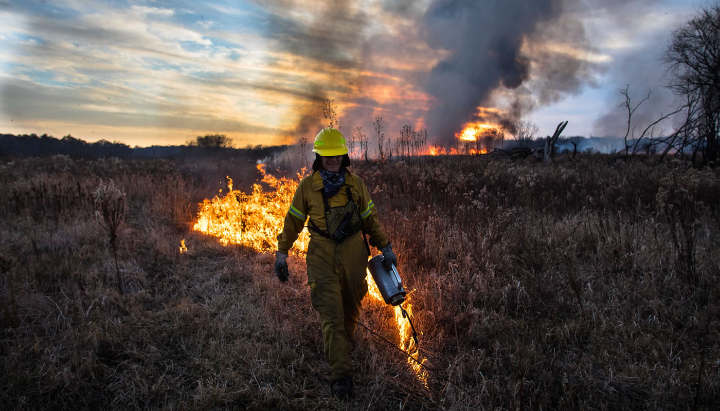
MULTIPOLYGON (((431 135, 442 142, 454 139, 459 127, 474 119, 477 107, 488 104, 500 86, 516 90, 506 117, 521 117, 531 109, 531 92, 521 89, 531 74, 531 58, 521 53, 523 40, 539 26, 553 24, 562 12, 559 0, 433 1, 423 17, 426 42, 450 55, 432 68, 426 85, 436 99, 427 116, 431 135)), ((541 91, 552 94, 554 83, 572 81, 574 74, 546 76, 549 83, 541 91)))

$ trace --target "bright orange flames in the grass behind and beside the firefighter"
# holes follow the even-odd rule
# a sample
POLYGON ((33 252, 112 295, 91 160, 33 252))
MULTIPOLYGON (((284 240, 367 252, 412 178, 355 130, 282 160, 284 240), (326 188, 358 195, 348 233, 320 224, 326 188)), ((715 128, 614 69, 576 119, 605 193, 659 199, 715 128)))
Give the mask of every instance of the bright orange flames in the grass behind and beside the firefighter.
MULTIPOLYGON (((247 245, 260 252, 274 250, 276 235, 282 230, 295 189, 306 171, 303 168, 300 173, 297 173, 297 179, 277 179, 266 173, 264 164, 258 164, 257 167, 263 176, 262 181, 275 191, 264 191, 260 184, 253 184, 252 194, 245 194, 233 189, 233 180, 228 176, 228 193, 222 196, 222 190, 220 190, 215 198, 205 199, 202 204, 199 204, 197 222, 193 229, 217 237, 222 245, 247 245)), ((293 249, 297 250, 298 254, 305 255, 309 241, 310 235, 306 228, 300 233, 293 249)), ((182 253, 184 240, 181 244, 182 253)), ((384 304, 382 294, 369 272, 367 283, 369 297, 384 304)), ((394 307, 394 310, 395 326, 400 337, 400 349, 419 358, 420 351, 415 346, 408 320, 402 317, 400 307, 394 307)), ((410 304, 408 297, 405 299, 405 311, 410 317, 413 316, 413 305, 410 304)), ((426 359, 422 361, 424 363, 426 359)), ((408 358, 408 363, 418 379, 427 387, 427 371, 410 358, 408 358)))

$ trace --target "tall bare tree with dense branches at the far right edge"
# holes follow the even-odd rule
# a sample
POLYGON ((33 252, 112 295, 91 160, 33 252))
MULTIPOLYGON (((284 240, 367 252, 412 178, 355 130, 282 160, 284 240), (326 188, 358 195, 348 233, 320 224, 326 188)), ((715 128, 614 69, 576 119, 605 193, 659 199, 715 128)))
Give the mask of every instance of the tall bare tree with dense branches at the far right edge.
POLYGON ((717 161, 720 140, 720 4, 700 9, 675 30, 664 57, 669 87, 686 96, 685 137, 696 139, 703 163, 717 161))

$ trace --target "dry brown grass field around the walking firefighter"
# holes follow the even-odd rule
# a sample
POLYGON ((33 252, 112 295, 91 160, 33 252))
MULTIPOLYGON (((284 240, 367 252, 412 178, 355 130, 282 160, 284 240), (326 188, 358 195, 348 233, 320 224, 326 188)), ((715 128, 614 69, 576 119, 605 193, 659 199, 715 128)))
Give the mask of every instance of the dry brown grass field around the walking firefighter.
MULTIPOLYGON (((359 328, 338 402, 302 255, 281 284, 271 252, 192 230, 253 162, 1 159, 0 408, 717 410, 717 169, 422 160, 352 171, 413 290, 426 384, 359 328)), ((389 307, 367 298, 361 321, 397 343, 389 307)))

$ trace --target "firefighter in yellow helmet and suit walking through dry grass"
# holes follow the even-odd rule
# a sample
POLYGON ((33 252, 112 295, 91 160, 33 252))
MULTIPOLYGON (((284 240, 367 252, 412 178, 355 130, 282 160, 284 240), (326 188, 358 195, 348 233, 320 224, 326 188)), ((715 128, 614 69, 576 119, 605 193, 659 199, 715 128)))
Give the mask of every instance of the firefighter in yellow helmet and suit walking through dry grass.
POLYGON ((353 392, 351 340, 361 301, 367 293, 366 266, 370 244, 382 251, 384 263, 397 265, 385 238, 377 211, 365 184, 347 170, 350 157, 345 137, 334 128, 321 130, 312 151, 312 174, 300 181, 277 236, 275 273, 288 279, 287 254, 310 217, 307 228, 307 285, 312 307, 320 314, 325 358, 333 376, 330 393, 347 397, 353 392))

